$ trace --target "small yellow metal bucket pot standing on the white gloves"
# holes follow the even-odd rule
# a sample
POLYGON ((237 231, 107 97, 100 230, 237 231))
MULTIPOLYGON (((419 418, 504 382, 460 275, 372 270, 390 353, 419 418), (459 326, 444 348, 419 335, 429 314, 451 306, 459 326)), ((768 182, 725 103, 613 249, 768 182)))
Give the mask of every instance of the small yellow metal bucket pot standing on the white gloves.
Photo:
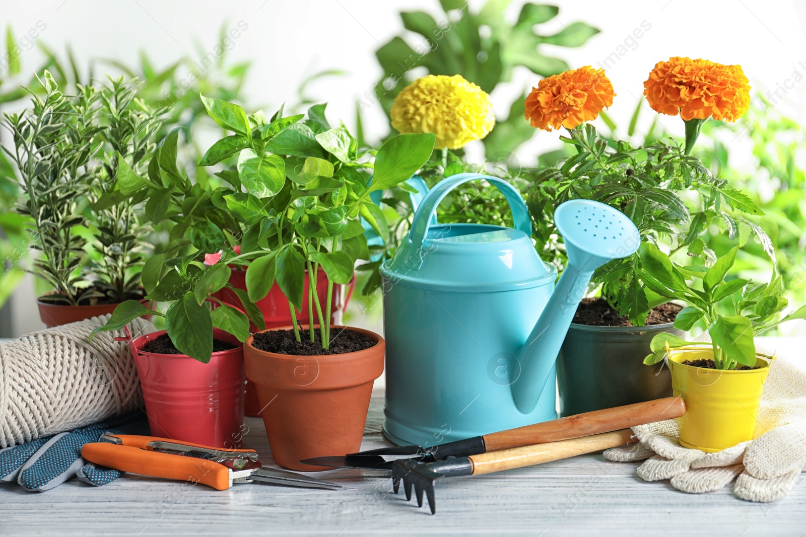
POLYGON ((677 419, 680 445, 712 453, 752 440, 772 357, 757 354, 757 370, 709 370, 682 363, 700 359, 713 360, 713 350, 669 353, 672 390, 686 403, 686 414, 677 419))

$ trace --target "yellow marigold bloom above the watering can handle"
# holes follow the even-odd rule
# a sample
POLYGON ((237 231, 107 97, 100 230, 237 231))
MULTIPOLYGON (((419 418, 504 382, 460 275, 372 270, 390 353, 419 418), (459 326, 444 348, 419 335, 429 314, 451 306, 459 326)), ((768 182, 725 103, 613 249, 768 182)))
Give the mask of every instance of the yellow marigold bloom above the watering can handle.
POLYGON ((418 78, 398 93, 391 116, 393 128, 403 134, 436 134, 437 149, 459 149, 496 124, 490 96, 460 75, 418 78))

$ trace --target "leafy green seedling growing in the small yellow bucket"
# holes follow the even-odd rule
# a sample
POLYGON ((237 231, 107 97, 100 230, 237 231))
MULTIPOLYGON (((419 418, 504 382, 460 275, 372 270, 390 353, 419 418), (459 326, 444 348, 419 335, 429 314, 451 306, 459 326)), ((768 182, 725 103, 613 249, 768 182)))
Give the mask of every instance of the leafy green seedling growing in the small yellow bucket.
MULTIPOLYGON (((770 283, 726 279, 738 250, 739 247, 735 246, 710 267, 677 266, 650 243, 643 243, 639 251, 639 275, 643 283, 667 299, 678 299, 688 304, 677 314, 675 328, 688 331, 700 320, 708 328, 713 360, 718 370, 733 370, 740 365, 754 366, 755 336, 787 320, 806 318, 806 306, 778 318, 778 314, 787 307, 780 275, 774 274, 770 283)), ((666 332, 659 333, 652 338, 652 354, 644 359, 644 363, 651 365, 663 360, 667 345, 676 349, 704 344, 701 341, 684 341, 666 332)))

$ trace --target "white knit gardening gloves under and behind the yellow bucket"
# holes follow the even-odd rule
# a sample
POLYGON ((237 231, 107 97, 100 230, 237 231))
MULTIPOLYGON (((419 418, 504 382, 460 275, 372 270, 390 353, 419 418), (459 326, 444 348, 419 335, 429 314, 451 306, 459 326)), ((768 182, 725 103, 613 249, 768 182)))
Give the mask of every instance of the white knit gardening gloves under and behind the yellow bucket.
POLYGON ((644 461, 638 477, 644 481, 669 479, 675 489, 689 493, 721 489, 738 476, 733 492, 739 498, 778 501, 789 494, 800 472, 806 470, 804 369, 786 358, 773 361, 754 440, 716 453, 683 448, 678 442, 677 422, 669 419, 634 427, 640 443, 609 449, 605 458, 644 461))

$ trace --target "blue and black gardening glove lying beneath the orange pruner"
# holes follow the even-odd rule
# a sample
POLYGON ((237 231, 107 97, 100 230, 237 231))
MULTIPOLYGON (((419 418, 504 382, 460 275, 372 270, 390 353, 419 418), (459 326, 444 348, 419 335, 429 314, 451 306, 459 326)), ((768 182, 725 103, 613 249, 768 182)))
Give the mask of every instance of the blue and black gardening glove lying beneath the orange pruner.
POLYGON ((106 485, 123 472, 81 458, 84 444, 98 442, 106 434, 148 435, 148 420, 137 412, 0 449, 0 481, 17 481, 23 489, 36 492, 52 489, 73 476, 90 485, 106 485))

